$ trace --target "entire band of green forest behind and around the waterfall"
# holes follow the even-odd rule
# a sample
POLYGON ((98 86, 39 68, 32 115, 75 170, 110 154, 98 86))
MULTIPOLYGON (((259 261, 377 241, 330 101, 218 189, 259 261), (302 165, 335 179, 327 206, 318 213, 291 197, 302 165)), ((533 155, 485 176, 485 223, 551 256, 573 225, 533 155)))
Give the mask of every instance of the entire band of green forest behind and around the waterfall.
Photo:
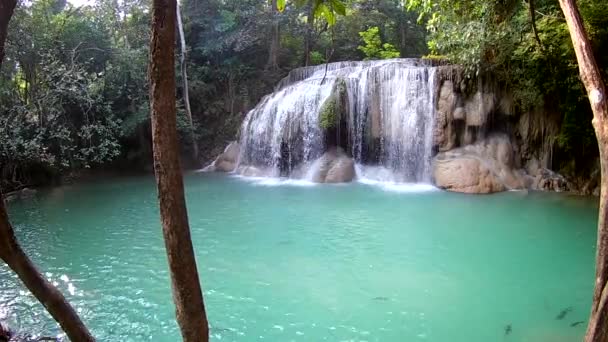
MULTIPOLYGON (((234 139, 244 114, 290 70, 395 57, 447 60, 471 78, 491 75, 511 90, 519 112, 557 117, 556 169, 588 173, 597 164, 591 111, 557 1, 317 2, 324 4, 180 4, 193 127, 178 80, 178 129, 186 159, 193 144, 200 150, 187 164, 200 166, 234 139)), ((606 72, 608 3, 579 6, 606 72)), ((151 168, 149 22, 150 4, 141 0, 18 4, 0 71, 3 188, 85 168, 151 168)))

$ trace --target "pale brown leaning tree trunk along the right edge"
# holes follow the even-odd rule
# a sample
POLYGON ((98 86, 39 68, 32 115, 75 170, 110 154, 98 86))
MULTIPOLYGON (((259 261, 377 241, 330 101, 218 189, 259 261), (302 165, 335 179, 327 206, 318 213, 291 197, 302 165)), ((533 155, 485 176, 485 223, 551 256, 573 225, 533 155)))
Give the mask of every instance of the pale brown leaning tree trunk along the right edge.
POLYGON ((600 151, 601 193, 598 216, 595 290, 585 341, 608 341, 608 101, 600 68, 593 56, 591 42, 576 7, 575 0, 559 0, 566 17, 570 37, 576 52, 581 80, 585 85, 591 109, 593 127, 600 151))

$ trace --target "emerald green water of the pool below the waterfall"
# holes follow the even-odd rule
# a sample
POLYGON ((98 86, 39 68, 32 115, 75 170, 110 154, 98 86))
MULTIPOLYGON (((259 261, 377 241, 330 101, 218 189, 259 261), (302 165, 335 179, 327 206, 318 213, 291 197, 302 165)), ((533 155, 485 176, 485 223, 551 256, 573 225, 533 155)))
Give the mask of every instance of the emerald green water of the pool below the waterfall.
MULTIPOLYGON (((594 200, 271 185, 187 176, 212 340, 581 340, 586 323, 571 324, 590 305, 594 200)), ((123 178, 9 206, 100 341, 179 340, 155 191, 123 178)), ((0 319, 59 333, 4 265, 0 319)))

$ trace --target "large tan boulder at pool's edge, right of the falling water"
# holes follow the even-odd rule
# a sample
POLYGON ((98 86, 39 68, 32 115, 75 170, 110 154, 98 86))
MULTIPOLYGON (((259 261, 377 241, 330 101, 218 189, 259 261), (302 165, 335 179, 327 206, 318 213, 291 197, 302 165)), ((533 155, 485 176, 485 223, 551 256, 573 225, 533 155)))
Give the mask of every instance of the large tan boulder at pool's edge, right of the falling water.
POLYGON ((464 193, 493 193, 524 189, 515 169, 513 147, 506 136, 494 136, 473 145, 437 154, 433 179, 442 189, 464 193))

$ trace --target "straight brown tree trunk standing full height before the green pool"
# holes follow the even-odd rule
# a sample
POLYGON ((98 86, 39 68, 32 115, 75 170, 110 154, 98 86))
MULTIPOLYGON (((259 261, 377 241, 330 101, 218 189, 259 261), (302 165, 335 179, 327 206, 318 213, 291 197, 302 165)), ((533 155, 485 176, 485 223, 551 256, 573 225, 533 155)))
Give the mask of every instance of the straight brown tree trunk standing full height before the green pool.
POLYGON ((150 107, 154 171, 177 323, 185 342, 209 340, 209 327, 190 238, 179 161, 175 108, 175 0, 153 0, 150 107))

